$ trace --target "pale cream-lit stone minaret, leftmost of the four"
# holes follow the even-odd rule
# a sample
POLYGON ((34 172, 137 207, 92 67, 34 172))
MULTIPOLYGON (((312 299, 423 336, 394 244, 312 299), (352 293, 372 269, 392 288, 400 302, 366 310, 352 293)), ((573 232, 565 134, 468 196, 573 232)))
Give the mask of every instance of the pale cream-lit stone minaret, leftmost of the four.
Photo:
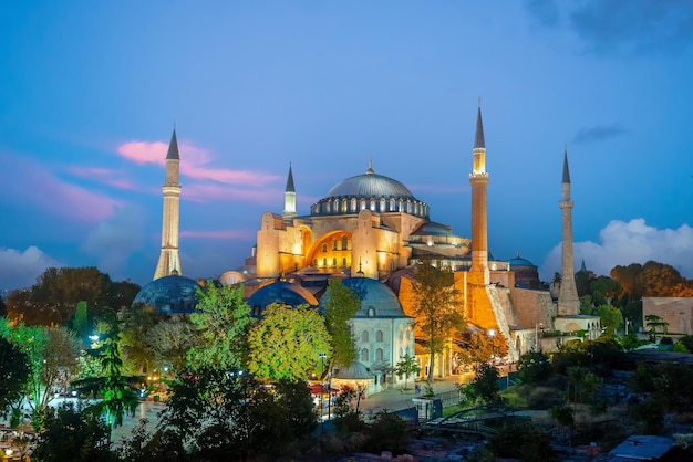
POLYGON ((178 230, 180 228, 180 183, 178 182, 180 157, 174 127, 168 154, 166 154, 166 181, 164 192, 164 218, 162 222, 162 253, 154 272, 154 279, 170 274, 183 274, 178 258, 178 230))

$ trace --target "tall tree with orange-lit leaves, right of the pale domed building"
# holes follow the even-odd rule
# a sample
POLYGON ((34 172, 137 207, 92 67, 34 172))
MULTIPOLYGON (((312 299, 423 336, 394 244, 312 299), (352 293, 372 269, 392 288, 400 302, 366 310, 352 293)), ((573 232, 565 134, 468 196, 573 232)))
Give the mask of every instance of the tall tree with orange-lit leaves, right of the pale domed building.
POLYGON ((455 276, 448 267, 437 269, 424 260, 416 267, 412 286, 414 313, 430 351, 428 386, 433 384, 435 355, 443 350, 453 328, 462 330, 462 296, 455 288, 455 276))

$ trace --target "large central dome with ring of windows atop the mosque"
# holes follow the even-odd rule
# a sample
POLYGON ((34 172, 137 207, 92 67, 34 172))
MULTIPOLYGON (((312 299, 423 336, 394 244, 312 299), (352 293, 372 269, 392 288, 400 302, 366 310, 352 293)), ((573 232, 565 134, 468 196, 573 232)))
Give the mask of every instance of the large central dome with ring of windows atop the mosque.
POLYGON ((416 199, 400 181, 375 174, 372 166, 365 174, 334 185, 323 199, 313 203, 311 214, 351 214, 364 209, 428 217, 428 206, 416 199))

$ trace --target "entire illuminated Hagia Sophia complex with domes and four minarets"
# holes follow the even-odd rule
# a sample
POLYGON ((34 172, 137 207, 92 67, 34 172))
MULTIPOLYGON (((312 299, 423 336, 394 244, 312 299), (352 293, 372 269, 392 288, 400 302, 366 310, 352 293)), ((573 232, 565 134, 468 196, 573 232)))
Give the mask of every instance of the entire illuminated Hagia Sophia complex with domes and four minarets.
MULTIPOLYGON (((370 392, 399 384, 392 372, 405 355, 416 357, 422 376, 428 374, 428 350, 416 330, 412 291, 416 264, 435 262, 453 271, 464 318, 476 332, 497 333, 506 343, 505 359, 515 361, 532 349, 557 348, 557 339, 601 332, 598 316, 580 315, 575 284, 570 172, 563 157, 560 210, 562 274, 557 300, 541 288, 537 266, 519 254, 510 261, 493 258, 487 243, 486 146, 479 104, 472 149, 472 237, 456 235, 449 225, 432 220, 433 211, 402 182, 376 174, 372 161, 362 175, 337 182, 310 207, 297 211, 297 188, 289 166, 283 210, 261 214, 257 242, 242 267, 219 275, 223 284, 242 284, 255 316, 271 303, 309 304, 320 309, 328 281, 339 277, 361 298, 352 318, 358 360, 338 370, 334 380, 360 381, 370 392), (542 338, 539 329, 558 333, 542 338)), ((163 313, 190 313, 198 283, 184 277, 178 259, 179 153, 176 132, 166 155, 162 249, 154 280, 134 303, 163 313)), ((299 188, 300 189, 300 188, 299 188)), ((493 211, 492 211, 493 212, 493 211)), ((557 214, 558 216, 558 214, 557 214)), ((493 335, 493 334, 492 334, 493 335)), ((575 338, 575 337, 573 337, 575 338)), ((446 343, 436 356, 436 377, 453 374, 459 345, 446 343)))

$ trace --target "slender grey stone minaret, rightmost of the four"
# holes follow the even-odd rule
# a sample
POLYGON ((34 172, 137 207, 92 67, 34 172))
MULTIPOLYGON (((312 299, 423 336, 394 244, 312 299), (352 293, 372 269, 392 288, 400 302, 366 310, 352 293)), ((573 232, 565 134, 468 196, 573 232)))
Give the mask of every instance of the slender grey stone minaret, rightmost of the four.
POLYGON ((560 191, 562 281, 558 292, 558 315, 573 316, 580 313, 580 298, 575 283, 575 264, 572 261, 572 201, 570 200, 568 148, 563 154, 563 179, 560 191))

